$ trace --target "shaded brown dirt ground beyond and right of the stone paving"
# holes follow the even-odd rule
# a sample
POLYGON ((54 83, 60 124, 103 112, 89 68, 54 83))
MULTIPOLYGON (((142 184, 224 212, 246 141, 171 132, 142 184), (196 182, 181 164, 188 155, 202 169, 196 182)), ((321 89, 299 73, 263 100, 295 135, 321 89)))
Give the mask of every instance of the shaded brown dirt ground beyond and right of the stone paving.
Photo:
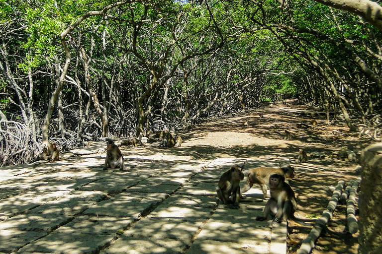
MULTIPOLYGON (((294 179, 289 180, 297 196, 298 211, 295 215, 309 223, 326 210, 338 181, 345 180, 347 184, 360 174, 355 170, 356 162, 332 157, 332 152, 346 149, 348 144, 352 144, 358 160, 361 150, 371 144, 370 141, 349 132, 345 123, 327 125, 325 119, 325 114, 318 108, 298 105, 295 100, 286 100, 286 104, 272 104, 211 120, 184 133, 183 139, 184 145, 206 145, 209 149, 200 152, 204 154, 203 158, 246 158, 254 155, 263 159, 289 158, 290 165, 296 170, 294 179), (259 114, 264 114, 264 118, 260 119, 259 114), (316 125, 311 124, 313 120, 317 122, 316 125), (249 126, 243 126, 245 121, 248 121, 249 126), (309 127, 297 128, 298 123, 305 123, 309 127), (291 140, 283 139, 285 129, 291 131, 291 140), (300 148, 307 153, 309 160, 306 163, 297 163, 300 148), (325 157, 314 158, 314 152, 325 154, 325 157)), ((243 182, 245 181, 246 179, 243 182)), ((255 187, 259 188, 257 185, 253 188, 255 187)), ((358 207, 356 211, 358 212, 358 207)), ((311 227, 301 226, 294 221, 288 222, 289 253, 296 253, 310 230, 311 227)), ((359 233, 352 235, 348 232, 346 204, 339 203, 312 253, 356 254, 358 235, 359 233)))

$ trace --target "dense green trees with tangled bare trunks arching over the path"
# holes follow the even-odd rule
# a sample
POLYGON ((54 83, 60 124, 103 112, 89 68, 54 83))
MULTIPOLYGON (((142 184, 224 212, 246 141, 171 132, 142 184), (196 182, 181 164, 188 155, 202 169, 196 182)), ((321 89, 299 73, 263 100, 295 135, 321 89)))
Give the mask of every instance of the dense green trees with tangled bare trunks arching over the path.
POLYGON ((290 97, 379 138, 381 32, 328 5, 1 0, 0 164, 290 97))

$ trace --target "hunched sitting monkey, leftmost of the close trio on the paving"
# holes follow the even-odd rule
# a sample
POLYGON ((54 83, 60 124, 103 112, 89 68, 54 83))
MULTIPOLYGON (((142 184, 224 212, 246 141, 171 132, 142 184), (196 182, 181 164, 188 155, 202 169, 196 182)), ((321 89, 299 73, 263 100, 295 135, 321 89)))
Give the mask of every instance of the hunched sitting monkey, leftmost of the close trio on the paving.
POLYGON ((238 165, 233 165, 224 172, 219 179, 218 187, 216 188, 217 196, 223 204, 228 205, 230 209, 239 208, 240 200, 240 181, 244 179, 244 173, 238 165))

